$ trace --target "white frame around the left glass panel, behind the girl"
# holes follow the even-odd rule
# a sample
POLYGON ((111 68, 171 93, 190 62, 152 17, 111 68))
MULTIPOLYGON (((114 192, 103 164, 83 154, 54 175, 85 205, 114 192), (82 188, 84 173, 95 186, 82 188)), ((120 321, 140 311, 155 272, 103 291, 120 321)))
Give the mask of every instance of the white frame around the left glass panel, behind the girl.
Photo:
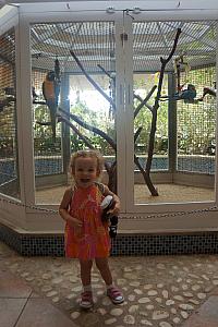
MULTIPOLYGON (((84 3, 83 3, 84 5, 84 3)), ((50 8, 50 5, 49 5, 50 8)), ((35 23, 56 23, 56 22, 76 22, 76 21, 114 21, 116 22, 116 41, 120 46, 116 48, 116 66, 117 66, 117 106, 118 106, 118 125, 123 125, 123 108, 124 108, 124 83, 123 83, 123 53, 121 47, 120 34, 122 32, 122 14, 121 12, 114 12, 113 14, 108 13, 105 9, 99 11, 94 11, 93 7, 89 11, 83 11, 76 8, 76 10, 63 9, 63 4, 55 3, 53 11, 46 11, 46 8, 43 8, 43 12, 29 11, 29 9, 36 9, 35 5, 21 7, 20 9, 20 61, 21 61, 21 86, 25 84, 25 87, 19 89, 19 94, 22 94, 21 97, 21 107, 22 107, 22 123, 23 123, 23 148, 22 157, 23 167, 25 171, 24 178, 24 190, 25 198, 24 203, 26 205, 26 227, 27 230, 37 230, 40 232, 45 231, 57 231, 62 230, 62 221, 60 217, 52 213, 38 211, 34 208, 37 208, 35 205, 35 173, 34 173, 34 158, 33 158, 33 131, 32 131, 32 113, 28 108, 31 108, 31 49, 29 49, 29 27, 31 24, 35 23), (61 10, 60 10, 61 9, 61 10), (25 46, 24 46, 25 45, 25 46), (24 129, 24 126, 27 126, 24 129)), ((123 144, 125 138, 120 135, 124 135, 124 130, 118 128, 118 162, 121 166, 123 160, 123 144)), ((119 194, 121 195, 121 201, 124 204, 124 190, 125 190, 125 166, 122 165, 121 171, 118 173, 118 189, 119 194)), ((38 207, 57 209, 56 205, 40 204, 38 207)))

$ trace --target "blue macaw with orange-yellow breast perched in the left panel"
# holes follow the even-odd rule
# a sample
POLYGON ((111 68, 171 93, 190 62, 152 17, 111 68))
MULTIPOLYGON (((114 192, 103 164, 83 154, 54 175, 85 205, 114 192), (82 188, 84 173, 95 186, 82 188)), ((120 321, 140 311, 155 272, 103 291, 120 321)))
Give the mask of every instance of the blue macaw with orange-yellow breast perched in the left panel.
POLYGON ((50 111, 50 124, 52 129, 52 138, 56 142, 56 122, 58 111, 58 98, 60 94, 60 83, 56 78, 56 73, 50 71, 47 73, 43 83, 43 94, 46 100, 46 105, 50 111))

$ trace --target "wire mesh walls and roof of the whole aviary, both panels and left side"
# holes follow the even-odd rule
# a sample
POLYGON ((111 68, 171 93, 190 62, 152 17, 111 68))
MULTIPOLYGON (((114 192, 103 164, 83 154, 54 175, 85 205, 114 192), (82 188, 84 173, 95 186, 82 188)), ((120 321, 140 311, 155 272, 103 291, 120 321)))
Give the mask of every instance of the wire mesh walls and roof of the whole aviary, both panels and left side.
MULTIPOLYGON (((76 147, 97 146, 104 149, 104 155, 108 156, 108 162, 111 165, 111 160, 116 158, 117 145, 114 112, 117 86, 116 23, 112 21, 60 21, 57 23, 33 23, 29 28, 35 175, 66 173, 66 165, 63 162, 64 158, 66 156, 69 159, 70 153, 76 147), (57 73, 57 62, 59 73, 57 73), (58 89, 58 95, 55 95, 56 99, 52 102, 56 107, 55 119, 52 118, 49 101, 45 98, 43 87, 48 74, 51 74, 51 72, 55 73, 53 81, 58 89), (96 82, 100 92, 92 85, 89 77, 96 82), (66 85, 65 81, 68 78, 70 82, 66 85), (88 108, 93 98, 93 95, 87 93, 88 90, 95 90, 98 95, 100 93, 100 96, 105 95, 104 104, 99 99, 96 100, 95 107, 98 110, 96 112, 92 112, 88 108), (71 99, 71 92, 72 94, 74 93, 74 99, 71 99), (85 93, 86 98, 83 100, 82 95, 85 93), (70 108, 68 107, 69 105, 63 105, 69 100, 70 108), (60 105, 63 107, 62 109, 69 110, 66 118, 71 125, 64 125, 64 119, 58 112, 60 105), (75 121, 75 117, 77 117, 77 121, 75 121), (55 128, 53 124, 56 124, 55 128), (94 128, 96 129, 95 131, 94 128), (104 137, 109 135, 109 143, 101 137, 99 131, 104 137), (66 143, 69 143, 68 146, 66 143)), ((160 135, 159 143, 157 142, 155 150, 157 155, 162 155, 166 158, 161 157, 159 164, 157 162, 158 160, 154 161, 153 169, 167 170, 169 168, 166 160, 168 160, 169 156, 168 142, 172 135, 168 131, 166 112, 168 111, 168 106, 174 101, 173 104, 175 104, 178 111, 178 154, 174 154, 178 156, 177 170, 214 174, 216 94, 213 97, 210 95, 204 97, 202 101, 199 99, 203 97, 205 87, 213 88, 213 83, 216 81, 217 22, 133 21, 133 75, 146 74, 147 76, 154 76, 160 72, 161 58, 169 56, 178 28, 181 28, 181 35, 174 55, 166 66, 165 78, 167 80, 169 74, 172 74, 175 80, 178 78, 175 61, 177 58, 182 57, 190 69, 185 71, 185 66, 182 66, 181 85, 184 87, 187 84, 194 85, 196 89, 194 100, 198 101, 187 104, 172 98, 174 94, 181 90, 177 89, 177 85, 171 90, 167 87, 162 89, 162 95, 168 97, 168 102, 160 104, 160 110, 165 107, 162 111, 165 111, 166 129, 165 135, 162 135, 161 128, 164 123, 160 121, 157 129, 157 135, 160 135), (195 128, 193 128, 193 121, 197 122, 195 128), (186 142, 187 138, 190 143, 186 142), (189 162, 184 156, 189 156, 189 162), (194 164, 196 160, 199 162, 197 164, 198 166, 194 164)), ((1 167, 5 166, 3 164, 5 159, 8 162, 11 160, 12 165, 9 168, 8 164, 7 168, 1 170, 1 190, 11 195, 16 194, 16 196, 20 196, 17 186, 14 31, 9 31, 2 35, 0 40, 1 167), (9 191, 9 185, 12 184, 16 184, 13 192, 9 191)), ((128 63, 125 64, 128 69, 128 63)), ((158 78, 155 81, 154 77, 153 81, 158 84, 158 78)), ((149 93, 149 87, 152 86, 143 85, 143 96, 149 93)), ((215 89, 214 87, 214 92, 215 89)), ((150 106, 153 106, 152 102, 150 106)), ((147 109, 144 108, 143 110, 147 109)), ((138 140, 140 145, 136 144, 136 147, 140 147, 144 142, 142 137, 138 140)), ((142 152, 143 156, 146 156, 145 149, 147 149, 146 145, 144 145, 144 150, 142 152)))

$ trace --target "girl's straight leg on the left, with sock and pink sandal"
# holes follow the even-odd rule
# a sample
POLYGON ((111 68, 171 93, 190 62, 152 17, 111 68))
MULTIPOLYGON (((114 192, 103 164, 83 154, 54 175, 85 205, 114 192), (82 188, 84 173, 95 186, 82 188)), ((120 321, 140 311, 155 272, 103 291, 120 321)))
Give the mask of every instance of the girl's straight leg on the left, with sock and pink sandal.
POLYGON ((81 307, 90 308, 93 306, 93 293, 90 286, 92 261, 80 261, 81 280, 83 284, 83 293, 81 294, 81 307))

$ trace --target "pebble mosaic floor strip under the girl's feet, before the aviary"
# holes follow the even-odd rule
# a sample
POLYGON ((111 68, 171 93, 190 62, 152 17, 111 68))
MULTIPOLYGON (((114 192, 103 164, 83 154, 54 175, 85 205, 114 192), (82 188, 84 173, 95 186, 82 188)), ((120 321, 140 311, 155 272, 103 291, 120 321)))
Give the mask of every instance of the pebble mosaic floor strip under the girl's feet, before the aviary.
POLYGON ((63 257, 22 257, 0 243, 0 265, 24 279, 77 326, 182 326, 218 286, 218 256, 111 257, 110 266, 125 302, 113 305, 93 270, 95 306, 81 311, 80 270, 63 257))

